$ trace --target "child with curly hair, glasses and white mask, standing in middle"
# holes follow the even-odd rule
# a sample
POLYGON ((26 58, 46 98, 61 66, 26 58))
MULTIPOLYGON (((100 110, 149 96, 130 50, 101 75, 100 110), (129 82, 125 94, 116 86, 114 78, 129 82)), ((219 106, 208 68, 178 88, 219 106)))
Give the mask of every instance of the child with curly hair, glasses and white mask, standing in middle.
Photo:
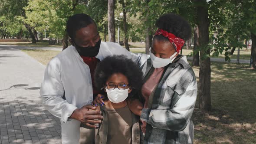
POLYGON ((95 86, 106 94, 95 144, 140 144, 139 117, 126 101, 141 89, 142 72, 138 66, 125 56, 108 56, 97 65, 94 79, 95 86))

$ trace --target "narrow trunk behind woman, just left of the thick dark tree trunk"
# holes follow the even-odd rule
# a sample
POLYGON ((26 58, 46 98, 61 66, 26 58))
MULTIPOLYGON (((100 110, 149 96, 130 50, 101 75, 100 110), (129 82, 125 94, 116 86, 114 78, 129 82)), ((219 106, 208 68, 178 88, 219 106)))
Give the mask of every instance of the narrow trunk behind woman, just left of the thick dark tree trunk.
POLYGON ((199 66, 199 51, 198 51, 198 46, 199 46, 199 31, 198 31, 198 26, 194 27, 194 56, 193 56, 193 66, 199 66))

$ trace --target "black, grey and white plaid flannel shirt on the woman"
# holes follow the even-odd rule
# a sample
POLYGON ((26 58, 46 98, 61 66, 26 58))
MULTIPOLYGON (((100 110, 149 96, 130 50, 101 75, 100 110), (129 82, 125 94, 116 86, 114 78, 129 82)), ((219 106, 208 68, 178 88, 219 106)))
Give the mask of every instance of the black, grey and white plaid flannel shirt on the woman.
MULTIPOLYGON (((154 68, 151 59, 142 66, 144 82, 154 68)), ((140 99, 143 98, 140 96, 140 99)), ((143 108, 141 120, 147 122, 144 144, 192 144, 191 120, 197 99, 197 81, 186 56, 178 55, 165 72, 143 108)))

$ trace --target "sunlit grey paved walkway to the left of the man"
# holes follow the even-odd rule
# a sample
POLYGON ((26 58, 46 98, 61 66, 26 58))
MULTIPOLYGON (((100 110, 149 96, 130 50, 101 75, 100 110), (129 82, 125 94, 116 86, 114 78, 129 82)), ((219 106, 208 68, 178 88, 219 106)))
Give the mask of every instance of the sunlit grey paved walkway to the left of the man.
POLYGON ((59 118, 41 105, 44 69, 17 47, 0 46, 0 144, 61 143, 59 118))

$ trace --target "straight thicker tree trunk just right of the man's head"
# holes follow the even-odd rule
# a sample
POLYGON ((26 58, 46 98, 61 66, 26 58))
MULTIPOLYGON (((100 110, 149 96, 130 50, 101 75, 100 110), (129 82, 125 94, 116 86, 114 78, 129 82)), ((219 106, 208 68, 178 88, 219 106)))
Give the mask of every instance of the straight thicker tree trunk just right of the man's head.
POLYGON ((115 0, 108 0, 108 41, 115 42, 115 0))

